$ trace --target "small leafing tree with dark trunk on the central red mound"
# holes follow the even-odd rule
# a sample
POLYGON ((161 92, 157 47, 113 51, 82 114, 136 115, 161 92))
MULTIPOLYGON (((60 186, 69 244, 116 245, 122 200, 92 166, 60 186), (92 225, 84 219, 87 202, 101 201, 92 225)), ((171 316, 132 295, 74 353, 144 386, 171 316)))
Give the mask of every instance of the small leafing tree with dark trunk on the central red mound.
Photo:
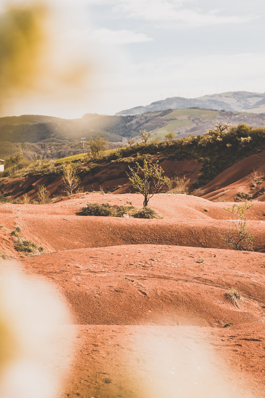
POLYGON ((168 177, 163 177, 164 170, 158 165, 158 161, 155 164, 147 164, 147 161, 143 161, 143 167, 136 162, 136 167, 131 168, 129 166, 131 175, 128 175, 132 182, 133 188, 144 196, 143 206, 147 206, 149 199, 154 196, 167 182, 168 177), (139 174, 143 174, 141 177, 139 174))

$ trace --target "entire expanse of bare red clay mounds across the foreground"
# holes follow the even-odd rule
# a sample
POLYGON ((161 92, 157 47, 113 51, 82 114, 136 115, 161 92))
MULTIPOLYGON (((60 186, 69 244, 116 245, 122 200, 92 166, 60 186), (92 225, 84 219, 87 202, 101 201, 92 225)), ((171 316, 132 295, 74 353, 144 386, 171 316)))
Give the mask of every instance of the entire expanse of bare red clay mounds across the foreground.
MULTIPOLYGON (((136 194, 82 194, 0 206, 0 250, 57 287, 76 325, 76 357, 54 398, 265 396, 265 255, 224 250, 222 207, 233 203, 155 195, 164 219, 145 220, 77 215, 87 201, 142 205, 136 194), (50 252, 15 254, 16 224, 50 252)), ((260 251, 264 213, 264 202, 248 213, 260 251)))

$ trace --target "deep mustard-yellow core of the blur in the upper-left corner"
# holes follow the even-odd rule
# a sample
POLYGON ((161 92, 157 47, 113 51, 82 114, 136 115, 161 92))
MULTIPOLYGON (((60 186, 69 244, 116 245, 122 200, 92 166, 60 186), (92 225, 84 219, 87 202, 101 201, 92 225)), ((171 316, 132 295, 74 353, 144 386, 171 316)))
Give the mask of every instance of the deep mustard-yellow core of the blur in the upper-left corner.
POLYGON ((32 90, 39 78, 48 35, 44 4, 7 6, 0 16, 0 106, 7 97, 32 90))

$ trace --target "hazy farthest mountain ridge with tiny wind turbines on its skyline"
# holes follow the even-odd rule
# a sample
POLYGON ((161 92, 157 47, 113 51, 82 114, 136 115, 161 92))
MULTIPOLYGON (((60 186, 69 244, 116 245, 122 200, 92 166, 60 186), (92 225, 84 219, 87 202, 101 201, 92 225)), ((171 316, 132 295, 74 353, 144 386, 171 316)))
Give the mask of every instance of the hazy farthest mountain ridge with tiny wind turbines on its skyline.
POLYGON ((265 93, 235 91, 191 99, 172 97, 152 102, 150 105, 125 109, 117 112, 116 115, 140 115, 142 113, 164 111, 166 109, 184 109, 191 107, 216 109, 218 111, 263 113, 265 112, 265 93))

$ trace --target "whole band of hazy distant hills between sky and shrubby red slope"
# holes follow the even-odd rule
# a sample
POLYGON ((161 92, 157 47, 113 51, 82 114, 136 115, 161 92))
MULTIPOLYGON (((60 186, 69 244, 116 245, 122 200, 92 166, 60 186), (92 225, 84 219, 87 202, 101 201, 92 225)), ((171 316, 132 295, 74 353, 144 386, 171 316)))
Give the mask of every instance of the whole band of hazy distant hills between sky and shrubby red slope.
MULTIPOLYGON (((262 109, 265 110, 265 94, 232 92, 193 100, 168 98, 114 116, 88 113, 80 119, 43 115, 2 117, 0 156, 6 158, 21 148, 29 160, 56 160, 80 153, 81 137, 89 140, 98 135, 108 140, 112 149, 125 146, 129 137, 139 142, 139 131, 143 129, 151 132, 150 139, 163 140, 169 131, 175 139, 203 134, 217 121, 263 126, 265 113, 257 113, 262 109)), ((85 152, 88 150, 85 144, 85 152)))

